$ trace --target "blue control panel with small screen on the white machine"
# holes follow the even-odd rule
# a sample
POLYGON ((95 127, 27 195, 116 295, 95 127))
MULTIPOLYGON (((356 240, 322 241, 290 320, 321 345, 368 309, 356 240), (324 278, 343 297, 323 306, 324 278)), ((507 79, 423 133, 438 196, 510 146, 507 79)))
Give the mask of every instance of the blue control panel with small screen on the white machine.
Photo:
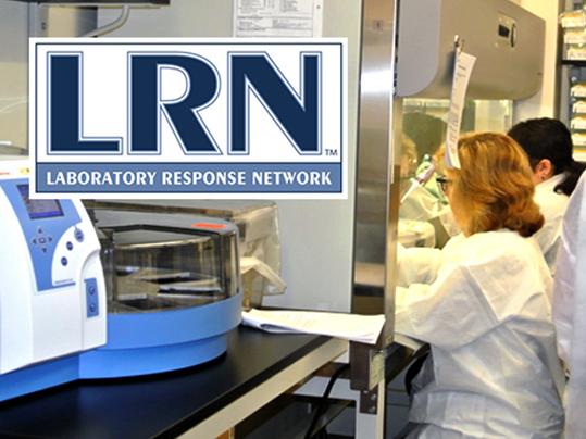
MULTIPOLYGON (((55 285, 52 264, 57 243, 63 234, 80 222, 79 214, 70 200, 32 200, 28 197, 28 180, 0 180, 23 230, 33 263, 37 290, 45 291, 65 285, 55 285)), ((61 261, 63 264, 64 261, 61 261)), ((66 262, 65 262, 66 264, 66 262)))

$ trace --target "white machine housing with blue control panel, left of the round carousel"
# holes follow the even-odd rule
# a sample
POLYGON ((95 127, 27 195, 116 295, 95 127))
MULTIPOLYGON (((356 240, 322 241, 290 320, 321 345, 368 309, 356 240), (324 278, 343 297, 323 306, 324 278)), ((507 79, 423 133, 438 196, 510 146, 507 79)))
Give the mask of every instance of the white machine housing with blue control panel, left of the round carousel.
POLYGON ((91 221, 79 201, 28 192, 27 162, 0 162, 0 374, 107 341, 91 221))

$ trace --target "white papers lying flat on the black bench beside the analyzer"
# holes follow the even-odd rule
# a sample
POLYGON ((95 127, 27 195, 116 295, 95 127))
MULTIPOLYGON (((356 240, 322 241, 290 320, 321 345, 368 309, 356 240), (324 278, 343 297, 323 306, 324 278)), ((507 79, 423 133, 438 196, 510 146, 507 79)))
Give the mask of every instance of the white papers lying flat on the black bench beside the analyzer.
POLYGON ((384 315, 317 311, 242 312, 242 323, 269 333, 307 333, 374 344, 385 324, 384 315))

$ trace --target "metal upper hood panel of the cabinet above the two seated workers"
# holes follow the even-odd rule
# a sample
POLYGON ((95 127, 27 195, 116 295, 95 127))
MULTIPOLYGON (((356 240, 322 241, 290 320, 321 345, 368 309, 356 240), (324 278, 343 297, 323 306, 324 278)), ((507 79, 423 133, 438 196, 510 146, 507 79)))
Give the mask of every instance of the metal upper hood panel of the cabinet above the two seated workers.
POLYGON ((510 0, 402 0, 397 95, 449 98, 454 37, 477 58, 467 97, 525 99, 541 86, 545 22, 510 0))

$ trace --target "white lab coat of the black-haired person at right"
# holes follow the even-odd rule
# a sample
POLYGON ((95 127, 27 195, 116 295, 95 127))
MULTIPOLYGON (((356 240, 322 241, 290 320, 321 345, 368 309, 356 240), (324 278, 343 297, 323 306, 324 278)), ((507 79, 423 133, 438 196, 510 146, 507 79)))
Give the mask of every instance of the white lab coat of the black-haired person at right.
POLYGON ((535 238, 539 242, 551 274, 556 273, 556 258, 560 246, 563 214, 569 201, 566 195, 557 193, 553 189, 563 178, 564 175, 559 174, 535 187, 534 200, 539 205, 545 220, 544 227, 535 234, 535 238))

